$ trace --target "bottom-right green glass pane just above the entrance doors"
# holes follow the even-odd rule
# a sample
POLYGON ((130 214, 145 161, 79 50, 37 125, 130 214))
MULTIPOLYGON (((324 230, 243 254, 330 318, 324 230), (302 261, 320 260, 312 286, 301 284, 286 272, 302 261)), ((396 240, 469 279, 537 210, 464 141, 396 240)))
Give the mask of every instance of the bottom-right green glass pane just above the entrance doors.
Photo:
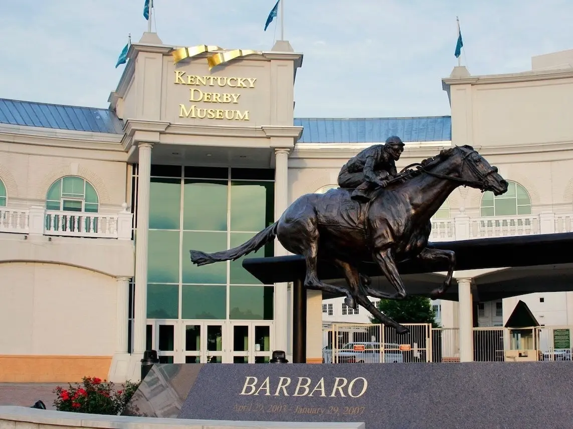
POLYGON ((231 319, 272 320, 272 286, 231 286, 229 313, 231 319))

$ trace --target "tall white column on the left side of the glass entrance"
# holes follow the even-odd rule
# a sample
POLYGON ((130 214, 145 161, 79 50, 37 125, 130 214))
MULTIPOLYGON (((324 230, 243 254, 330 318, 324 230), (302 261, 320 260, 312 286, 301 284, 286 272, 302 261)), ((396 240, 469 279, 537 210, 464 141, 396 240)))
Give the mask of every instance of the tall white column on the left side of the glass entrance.
POLYGON ((134 353, 146 346, 147 324, 147 238, 149 232, 149 190, 151 182, 151 144, 139 144, 137 229, 135 235, 134 353))

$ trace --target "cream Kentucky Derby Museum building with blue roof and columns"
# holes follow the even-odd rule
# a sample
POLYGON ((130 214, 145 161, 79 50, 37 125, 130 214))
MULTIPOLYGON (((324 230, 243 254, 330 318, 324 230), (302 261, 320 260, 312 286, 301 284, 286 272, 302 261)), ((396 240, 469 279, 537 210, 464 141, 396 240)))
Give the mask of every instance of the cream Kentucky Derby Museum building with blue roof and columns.
MULTIPOLYGON (((571 231, 571 51, 511 75, 454 67, 442 81, 451 116, 417 118, 294 118, 303 55, 286 41, 229 51, 144 33, 128 58, 109 109, 0 99, 0 382, 137 380, 146 349, 173 363, 290 356, 290 285, 261 284, 244 257, 196 267, 189 250, 243 243, 393 134, 406 143, 398 168, 470 144, 510 183, 499 197, 454 191, 431 240, 571 231)), ((273 255, 286 251, 276 242, 246 257, 273 255)), ((547 273, 458 272, 467 293, 437 301, 442 323, 464 335, 500 302, 480 302, 480 285, 525 294, 535 285, 523 279, 547 273)), ((542 310, 555 323, 573 324, 567 290, 542 310)), ((318 363, 324 305, 341 301, 308 291, 307 303, 307 362, 318 363)))

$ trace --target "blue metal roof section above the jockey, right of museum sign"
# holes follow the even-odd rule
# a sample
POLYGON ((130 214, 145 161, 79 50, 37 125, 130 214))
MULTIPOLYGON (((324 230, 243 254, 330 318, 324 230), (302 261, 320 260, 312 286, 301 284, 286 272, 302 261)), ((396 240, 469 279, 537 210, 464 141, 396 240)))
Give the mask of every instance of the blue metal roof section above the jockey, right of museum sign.
POLYGON ((382 143, 390 136, 408 141, 452 140, 452 117, 295 118, 301 143, 382 143))

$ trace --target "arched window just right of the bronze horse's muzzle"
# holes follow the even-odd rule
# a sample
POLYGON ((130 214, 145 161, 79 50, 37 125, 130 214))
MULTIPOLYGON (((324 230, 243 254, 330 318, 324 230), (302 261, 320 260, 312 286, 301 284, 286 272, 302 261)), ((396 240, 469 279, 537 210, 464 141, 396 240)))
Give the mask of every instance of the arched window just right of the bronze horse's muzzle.
POLYGON ((485 216, 531 215, 531 198, 519 183, 508 181, 507 192, 495 196, 486 191, 481 197, 480 213, 485 216))

